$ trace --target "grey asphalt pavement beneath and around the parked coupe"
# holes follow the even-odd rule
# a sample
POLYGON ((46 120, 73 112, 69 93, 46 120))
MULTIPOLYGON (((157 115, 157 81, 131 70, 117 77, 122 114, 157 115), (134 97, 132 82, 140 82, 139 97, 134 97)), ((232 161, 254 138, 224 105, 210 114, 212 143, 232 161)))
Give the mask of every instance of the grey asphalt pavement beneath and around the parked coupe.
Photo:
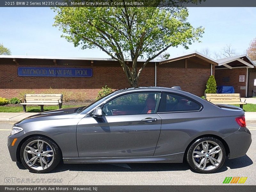
POLYGON ((12 122, 0 123, 1 185, 230 185, 226 177, 247 177, 244 184, 256 184, 256 121, 247 122, 252 144, 247 155, 228 160, 212 174, 200 174, 184 164, 59 164, 55 170, 35 174, 12 162, 7 136, 12 122), (20 180, 18 180, 20 179, 20 180), (23 182, 26 181, 26 182, 23 182))

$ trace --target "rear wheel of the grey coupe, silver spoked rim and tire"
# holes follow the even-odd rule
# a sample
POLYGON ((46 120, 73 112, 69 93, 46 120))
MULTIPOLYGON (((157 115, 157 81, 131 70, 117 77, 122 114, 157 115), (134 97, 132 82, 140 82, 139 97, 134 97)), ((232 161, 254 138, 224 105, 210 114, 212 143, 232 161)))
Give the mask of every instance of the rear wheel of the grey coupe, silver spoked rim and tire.
POLYGON ((199 173, 213 173, 225 162, 226 152, 222 142, 213 137, 196 140, 188 148, 187 162, 199 173))

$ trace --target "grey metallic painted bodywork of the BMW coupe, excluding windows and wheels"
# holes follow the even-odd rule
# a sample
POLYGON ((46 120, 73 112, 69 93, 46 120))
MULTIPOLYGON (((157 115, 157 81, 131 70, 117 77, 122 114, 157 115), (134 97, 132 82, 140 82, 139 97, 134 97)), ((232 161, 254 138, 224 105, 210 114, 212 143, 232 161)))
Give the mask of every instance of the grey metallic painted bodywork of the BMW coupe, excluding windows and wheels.
POLYGON ((117 91, 81 111, 60 109, 26 118, 15 126, 24 131, 8 137, 12 161, 23 140, 44 135, 59 145, 64 163, 182 162, 189 144, 202 135, 215 135, 227 143, 229 158, 244 156, 252 142, 247 128, 235 118, 243 116, 239 108, 220 108, 188 92, 159 87, 117 91), (200 103, 196 112, 157 113, 92 117, 96 107, 131 92, 171 92, 200 103), (77 113, 79 112, 79 113, 77 113), (143 122, 156 118, 154 122, 143 122), (11 146, 13 138, 18 138, 11 146))

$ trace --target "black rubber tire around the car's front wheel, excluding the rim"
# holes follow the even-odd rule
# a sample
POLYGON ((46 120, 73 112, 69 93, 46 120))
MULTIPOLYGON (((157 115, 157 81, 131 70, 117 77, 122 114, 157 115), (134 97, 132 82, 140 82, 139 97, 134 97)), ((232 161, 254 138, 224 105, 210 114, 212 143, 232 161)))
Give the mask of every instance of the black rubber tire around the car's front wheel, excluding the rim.
POLYGON ((33 173, 46 173, 46 172, 50 172, 52 171, 59 163, 60 163, 60 160, 62 158, 62 155, 61 155, 61 151, 60 151, 60 148, 58 147, 58 145, 44 137, 44 136, 36 136, 36 137, 31 137, 29 139, 27 139, 21 146, 20 148, 20 159, 21 159, 21 163, 30 171, 30 172, 33 172, 33 173), (52 151, 53 151, 53 154, 54 154, 54 157, 53 157, 53 162, 51 164, 51 166, 49 166, 48 168, 44 168, 44 170, 35 170, 31 167, 28 166, 28 164, 26 163, 25 159, 24 159, 24 156, 23 156, 23 153, 24 153, 24 150, 26 148, 26 146, 34 141, 34 140, 42 140, 46 143, 48 143, 50 145, 50 147, 52 148, 52 151))

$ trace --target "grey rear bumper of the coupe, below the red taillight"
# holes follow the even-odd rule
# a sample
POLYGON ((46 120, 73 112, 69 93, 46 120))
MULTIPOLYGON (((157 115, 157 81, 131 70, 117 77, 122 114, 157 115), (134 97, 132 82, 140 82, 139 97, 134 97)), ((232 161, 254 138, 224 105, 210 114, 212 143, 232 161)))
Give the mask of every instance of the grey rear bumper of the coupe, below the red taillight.
POLYGON ((227 142, 229 147, 229 159, 244 156, 252 143, 252 135, 246 127, 240 127, 238 131, 223 139, 227 142))

